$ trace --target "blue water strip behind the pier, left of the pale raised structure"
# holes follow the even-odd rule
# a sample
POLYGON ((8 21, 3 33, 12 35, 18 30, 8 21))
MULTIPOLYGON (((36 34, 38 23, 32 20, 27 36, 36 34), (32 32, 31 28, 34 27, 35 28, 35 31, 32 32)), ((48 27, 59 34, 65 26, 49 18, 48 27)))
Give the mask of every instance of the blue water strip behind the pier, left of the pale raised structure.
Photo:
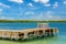
POLYGON ((7 29, 7 30, 34 29, 36 26, 37 26, 36 22, 33 22, 33 23, 0 23, 0 29, 7 29))

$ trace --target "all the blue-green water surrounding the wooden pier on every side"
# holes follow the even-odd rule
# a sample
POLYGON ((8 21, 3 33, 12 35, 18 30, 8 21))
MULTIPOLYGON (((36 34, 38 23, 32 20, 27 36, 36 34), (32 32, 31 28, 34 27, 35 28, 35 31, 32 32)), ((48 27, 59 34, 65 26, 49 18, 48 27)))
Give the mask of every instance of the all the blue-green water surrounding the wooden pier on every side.
MULTIPOLYGON (((55 36, 28 42, 13 42, 0 40, 1 44, 66 44, 66 22, 50 22, 50 28, 58 28, 59 32, 55 36)), ((37 22, 31 23, 0 23, 1 30, 25 30, 37 28, 37 22)))

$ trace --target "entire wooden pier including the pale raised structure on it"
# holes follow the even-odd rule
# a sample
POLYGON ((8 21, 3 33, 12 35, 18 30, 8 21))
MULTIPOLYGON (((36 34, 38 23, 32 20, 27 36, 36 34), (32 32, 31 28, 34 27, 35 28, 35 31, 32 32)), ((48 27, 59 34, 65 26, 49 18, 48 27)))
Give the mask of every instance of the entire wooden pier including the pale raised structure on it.
POLYGON ((46 23, 38 23, 36 29, 0 30, 0 37, 11 40, 25 40, 29 37, 48 36, 58 33, 57 28, 48 28, 46 23))

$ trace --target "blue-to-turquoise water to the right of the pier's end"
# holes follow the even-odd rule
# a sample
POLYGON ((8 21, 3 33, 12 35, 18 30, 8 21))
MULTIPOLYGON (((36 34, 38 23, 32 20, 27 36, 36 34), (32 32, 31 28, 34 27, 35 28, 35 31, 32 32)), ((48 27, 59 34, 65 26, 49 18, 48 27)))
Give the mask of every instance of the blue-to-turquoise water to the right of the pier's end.
POLYGON ((57 37, 54 40, 51 40, 55 44, 66 44, 66 22, 61 23, 50 23, 50 26, 52 28, 58 28, 59 33, 57 34, 57 37))

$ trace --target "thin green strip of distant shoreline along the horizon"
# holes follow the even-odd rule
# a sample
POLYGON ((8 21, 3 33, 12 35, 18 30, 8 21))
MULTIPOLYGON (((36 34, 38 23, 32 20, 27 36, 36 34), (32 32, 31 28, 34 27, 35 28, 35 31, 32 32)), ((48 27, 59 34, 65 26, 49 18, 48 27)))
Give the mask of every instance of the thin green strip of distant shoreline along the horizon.
POLYGON ((44 21, 36 21, 36 20, 0 20, 0 23, 13 23, 13 22, 19 22, 19 23, 26 23, 26 22, 66 22, 66 20, 44 20, 44 21))

